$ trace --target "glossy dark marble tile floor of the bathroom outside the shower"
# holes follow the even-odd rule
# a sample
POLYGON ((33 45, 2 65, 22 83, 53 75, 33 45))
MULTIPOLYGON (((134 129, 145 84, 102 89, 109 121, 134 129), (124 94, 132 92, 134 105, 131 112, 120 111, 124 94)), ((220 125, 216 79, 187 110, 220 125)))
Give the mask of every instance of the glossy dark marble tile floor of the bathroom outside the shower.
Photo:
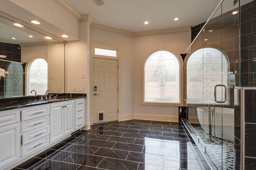
POLYGON ((209 170, 180 123, 92 125, 13 170, 209 170))

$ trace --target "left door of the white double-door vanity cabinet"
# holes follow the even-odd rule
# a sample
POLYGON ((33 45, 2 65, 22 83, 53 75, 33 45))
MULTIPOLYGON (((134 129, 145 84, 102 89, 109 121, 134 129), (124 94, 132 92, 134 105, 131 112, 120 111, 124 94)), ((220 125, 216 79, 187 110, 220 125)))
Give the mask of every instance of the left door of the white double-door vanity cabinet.
POLYGON ((64 135, 64 114, 63 103, 50 106, 50 142, 55 141, 64 135))

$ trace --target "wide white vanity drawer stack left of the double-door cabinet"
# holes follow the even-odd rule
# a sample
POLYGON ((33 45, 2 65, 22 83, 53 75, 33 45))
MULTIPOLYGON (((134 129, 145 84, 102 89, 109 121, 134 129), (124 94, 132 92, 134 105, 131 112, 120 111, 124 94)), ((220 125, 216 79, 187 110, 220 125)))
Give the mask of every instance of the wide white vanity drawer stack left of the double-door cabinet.
POLYGON ((32 106, 21 111, 21 156, 50 143, 50 106, 32 106))

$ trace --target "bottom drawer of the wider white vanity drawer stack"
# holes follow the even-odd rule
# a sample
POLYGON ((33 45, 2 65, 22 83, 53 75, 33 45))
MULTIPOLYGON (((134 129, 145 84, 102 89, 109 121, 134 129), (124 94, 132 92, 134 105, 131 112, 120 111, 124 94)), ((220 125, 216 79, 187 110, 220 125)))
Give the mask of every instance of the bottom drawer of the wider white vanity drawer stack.
POLYGON ((22 146, 21 147, 21 156, 23 157, 27 154, 30 154, 30 153, 46 146, 48 143, 50 143, 49 135, 47 135, 37 141, 34 141, 28 145, 22 146))

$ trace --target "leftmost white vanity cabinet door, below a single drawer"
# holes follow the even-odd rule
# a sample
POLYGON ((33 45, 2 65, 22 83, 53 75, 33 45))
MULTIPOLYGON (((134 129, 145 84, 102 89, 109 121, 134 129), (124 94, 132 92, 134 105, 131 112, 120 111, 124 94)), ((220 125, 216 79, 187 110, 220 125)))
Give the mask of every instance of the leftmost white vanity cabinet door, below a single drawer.
POLYGON ((20 123, 0 127, 0 169, 20 158, 20 123))

